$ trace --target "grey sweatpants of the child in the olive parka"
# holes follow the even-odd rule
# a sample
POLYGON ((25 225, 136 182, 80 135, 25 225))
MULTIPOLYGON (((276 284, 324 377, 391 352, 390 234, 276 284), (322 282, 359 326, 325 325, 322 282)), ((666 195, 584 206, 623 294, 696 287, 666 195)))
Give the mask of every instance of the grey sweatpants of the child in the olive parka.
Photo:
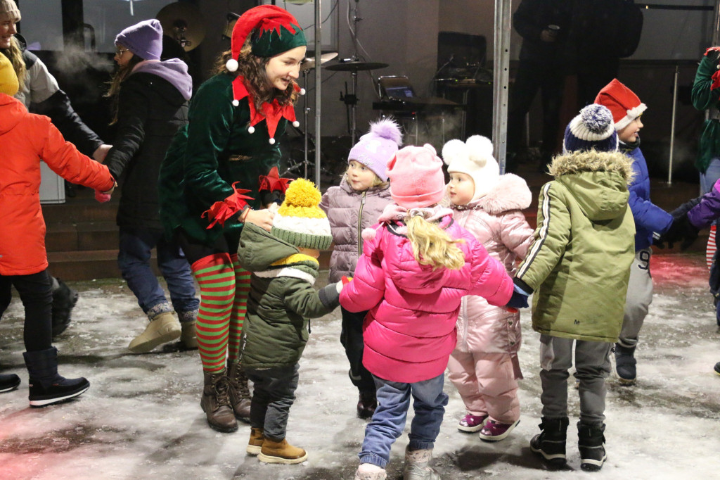
POLYGON ((567 378, 575 350, 575 378, 580 382, 580 422, 598 424, 605 421, 605 379, 610 374, 612 346, 609 342, 540 335, 543 417, 567 417, 567 378))

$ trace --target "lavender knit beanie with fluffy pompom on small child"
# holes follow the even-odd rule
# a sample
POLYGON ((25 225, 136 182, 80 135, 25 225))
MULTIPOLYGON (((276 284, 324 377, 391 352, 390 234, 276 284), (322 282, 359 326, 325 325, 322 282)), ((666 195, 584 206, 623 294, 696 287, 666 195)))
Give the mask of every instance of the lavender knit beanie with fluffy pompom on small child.
POLYGON ((348 163, 351 160, 359 161, 379 179, 387 182, 387 161, 395 156, 400 145, 400 127, 393 120, 384 118, 370 124, 370 131, 362 135, 358 143, 350 149, 348 163))

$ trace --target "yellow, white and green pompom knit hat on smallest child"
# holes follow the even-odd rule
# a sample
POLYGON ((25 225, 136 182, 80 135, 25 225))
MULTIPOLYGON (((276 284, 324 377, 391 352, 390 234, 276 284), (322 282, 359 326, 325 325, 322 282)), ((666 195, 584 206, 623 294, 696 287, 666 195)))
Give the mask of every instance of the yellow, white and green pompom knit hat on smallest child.
POLYGON ((275 213, 271 234, 294 246, 328 249, 333 236, 328 215, 318 207, 321 198, 320 190, 310 180, 293 180, 275 213))

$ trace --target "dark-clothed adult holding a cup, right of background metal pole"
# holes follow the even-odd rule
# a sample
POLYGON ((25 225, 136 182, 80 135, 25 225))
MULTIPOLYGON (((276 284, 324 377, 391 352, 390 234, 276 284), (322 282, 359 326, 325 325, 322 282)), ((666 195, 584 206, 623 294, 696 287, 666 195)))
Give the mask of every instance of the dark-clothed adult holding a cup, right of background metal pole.
POLYGON ((557 151, 560 106, 567 66, 564 48, 570 27, 567 0, 523 0, 513 14, 513 27, 523 37, 520 63, 511 87, 508 114, 508 170, 516 166, 525 117, 538 90, 542 95, 541 167, 557 151))

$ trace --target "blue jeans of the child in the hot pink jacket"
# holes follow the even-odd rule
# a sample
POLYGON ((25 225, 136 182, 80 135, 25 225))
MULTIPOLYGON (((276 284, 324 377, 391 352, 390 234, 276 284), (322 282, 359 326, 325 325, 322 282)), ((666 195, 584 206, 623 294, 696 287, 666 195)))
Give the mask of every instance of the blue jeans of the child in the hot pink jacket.
POLYGON ((448 396, 443 391, 445 374, 430 380, 402 383, 375 378, 377 409, 365 428, 365 440, 359 453, 361 463, 385 468, 390 461, 390 448, 405 429, 405 420, 413 396, 415 417, 410 425, 409 450, 433 448, 440 433, 448 396))

